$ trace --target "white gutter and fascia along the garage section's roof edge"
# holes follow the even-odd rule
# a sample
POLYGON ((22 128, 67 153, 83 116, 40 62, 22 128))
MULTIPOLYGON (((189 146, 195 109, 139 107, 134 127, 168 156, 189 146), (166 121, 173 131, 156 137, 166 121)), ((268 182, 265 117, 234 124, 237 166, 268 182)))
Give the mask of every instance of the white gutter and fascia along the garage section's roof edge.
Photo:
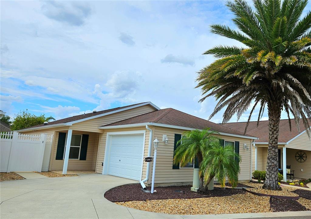
MULTIPOLYGON (((189 128, 189 127, 183 127, 183 126, 177 126, 177 125, 168 125, 163 123, 136 123, 136 124, 126 124, 126 125, 112 125, 112 126, 100 126, 99 129, 112 129, 112 128, 128 128, 128 127, 139 127, 139 126, 145 126, 145 125, 153 125, 153 126, 159 126, 159 127, 166 127, 166 128, 176 128, 176 129, 182 129, 182 130, 194 130, 195 128, 189 128)), ((220 135, 226 135, 226 136, 232 136, 232 137, 241 137, 241 138, 248 138, 248 139, 258 139, 257 137, 249 137, 244 135, 235 135, 235 134, 229 134, 229 133, 223 133, 219 132, 220 135)))

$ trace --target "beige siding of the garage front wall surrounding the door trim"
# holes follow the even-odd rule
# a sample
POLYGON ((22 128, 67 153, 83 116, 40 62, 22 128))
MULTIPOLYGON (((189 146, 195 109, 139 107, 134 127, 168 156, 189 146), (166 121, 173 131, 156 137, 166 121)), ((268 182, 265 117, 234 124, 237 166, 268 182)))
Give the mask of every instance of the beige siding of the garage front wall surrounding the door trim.
MULTIPOLYGON (((134 128, 106 129, 104 131, 104 133, 101 133, 100 134, 100 143, 99 143, 99 148, 98 148, 96 172, 97 173, 102 173, 103 172, 103 166, 101 165, 101 163, 104 162, 107 133, 109 133, 109 132, 141 131, 141 130, 145 131, 146 127, 143 126, 143 127, 134 127, 134 128)), ((149 133, 150 133, 149 130, 146 130, 145 148, 144 148, 145 153, 144 153, 144 156, 148 155, 149 133)), ((143 162, 142 179, 144 179, 146 177, 146 167, 147 167, 147 163, 143 162)))

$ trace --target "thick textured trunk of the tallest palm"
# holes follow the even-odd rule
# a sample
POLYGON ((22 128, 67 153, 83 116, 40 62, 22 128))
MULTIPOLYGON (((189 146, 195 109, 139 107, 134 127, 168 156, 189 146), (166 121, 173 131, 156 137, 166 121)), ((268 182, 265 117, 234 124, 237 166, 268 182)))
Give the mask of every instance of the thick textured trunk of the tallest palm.
POLYGON ((269 145, 267 156, 266 180, 263 189, 282 190, 278 184, 278 137, 281 119, 281 101, 269 101, 269 145))

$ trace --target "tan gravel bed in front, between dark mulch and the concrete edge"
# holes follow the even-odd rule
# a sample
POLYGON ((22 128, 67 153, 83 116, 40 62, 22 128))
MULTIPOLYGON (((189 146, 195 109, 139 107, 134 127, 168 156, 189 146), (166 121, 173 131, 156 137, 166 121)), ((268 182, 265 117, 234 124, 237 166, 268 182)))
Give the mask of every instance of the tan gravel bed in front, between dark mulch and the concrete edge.
POLYGON ((117 202, 125 207, 165 214, 234 214, 271 212, 269 197, 251 193, 222 197, 117 202))

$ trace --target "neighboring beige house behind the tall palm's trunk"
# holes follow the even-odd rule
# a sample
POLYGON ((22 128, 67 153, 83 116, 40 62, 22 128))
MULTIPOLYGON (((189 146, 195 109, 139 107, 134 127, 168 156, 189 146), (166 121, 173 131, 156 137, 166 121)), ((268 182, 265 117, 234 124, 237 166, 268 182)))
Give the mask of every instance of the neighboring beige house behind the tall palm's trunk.
MULTIPOLYGON (((311 178, 311 140, 309 139, 304 124, 299 123, 300 133, 295 124, 295 119, 291 119, 291 131, 288 119, 281 119, 279 127, 279 149, 278 149, 278 168, 283 174, 286 166, 289 167, 295 178, 311 178)), ((267 152, 269 141, 269 121, 260 121, 257 127, 257 121, 250 122, 247 128, 247 134, 255 135, 258 140, 253 143, 253 170, 266 170, 267 152)), ((225 123, 225 127, 233 128, 244 132, 246 122, 225 123)), ((293 178, 293 176, 291 176, 293 178)), ((289 176, 287 176, 287 179, 289 176)))

